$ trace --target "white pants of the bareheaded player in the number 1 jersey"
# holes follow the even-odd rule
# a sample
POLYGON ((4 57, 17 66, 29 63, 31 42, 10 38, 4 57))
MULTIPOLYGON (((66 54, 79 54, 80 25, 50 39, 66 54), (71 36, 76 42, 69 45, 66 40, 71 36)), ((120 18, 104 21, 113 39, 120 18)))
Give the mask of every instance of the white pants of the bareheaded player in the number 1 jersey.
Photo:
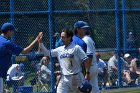
POLYGON ((62 75, 57 87, 57 93, 80 93, 78 86, 81 86, 84 80, 82 72, 77 75, 62 75))

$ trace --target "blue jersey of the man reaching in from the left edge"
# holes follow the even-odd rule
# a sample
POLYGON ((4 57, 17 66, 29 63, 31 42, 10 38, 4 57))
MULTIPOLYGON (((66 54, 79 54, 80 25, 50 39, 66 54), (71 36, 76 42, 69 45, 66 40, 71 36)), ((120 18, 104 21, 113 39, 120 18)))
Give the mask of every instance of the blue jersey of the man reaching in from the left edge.
POLYGON ((23 48, 0 35, 0 77, 5 78, 12 55, 19 55, 23 48))

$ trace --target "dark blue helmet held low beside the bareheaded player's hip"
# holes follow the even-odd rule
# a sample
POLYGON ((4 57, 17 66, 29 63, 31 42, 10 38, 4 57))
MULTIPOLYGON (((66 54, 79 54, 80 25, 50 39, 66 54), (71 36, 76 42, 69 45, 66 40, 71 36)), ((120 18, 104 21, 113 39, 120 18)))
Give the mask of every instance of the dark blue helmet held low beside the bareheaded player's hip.
POLYGON ((85 81, 80 87, 78 87, 78 89, 82 93, 90 93, 92 90, 92 86, 88 81, 85 81))

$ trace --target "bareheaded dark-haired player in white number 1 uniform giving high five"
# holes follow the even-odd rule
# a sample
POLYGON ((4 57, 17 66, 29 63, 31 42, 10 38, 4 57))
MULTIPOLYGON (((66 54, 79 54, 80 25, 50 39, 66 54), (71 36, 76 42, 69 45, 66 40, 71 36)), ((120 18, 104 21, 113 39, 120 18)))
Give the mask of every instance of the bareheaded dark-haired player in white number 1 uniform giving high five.
POLYGON ((50 56, 51 54, 52 57, 57 57, 60 63, 62 76, 57 87, 57 93, 79 93, 77 87, 80 87, 85 81, 81 69, 83 62, 89 72, 90 66, 87 56, 79 45, 72 42, 72 37, 72 31, 64 29, 61 33, 64 45, 50 51, 41 43, 42 38, 39 40, 39 47, 44 51, 44 55, 50 56))

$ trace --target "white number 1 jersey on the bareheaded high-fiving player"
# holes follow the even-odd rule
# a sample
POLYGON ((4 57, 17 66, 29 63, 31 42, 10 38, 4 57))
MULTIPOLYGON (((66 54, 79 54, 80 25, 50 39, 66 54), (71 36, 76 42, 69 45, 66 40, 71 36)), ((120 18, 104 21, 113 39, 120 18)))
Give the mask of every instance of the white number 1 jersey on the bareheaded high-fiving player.
MULTIPOLYGON (((50 55, 49 50, 44 47, 43 43, 40 43, 40 48, 43 50, 44 55, 50 55)), ((72 75, 81 72, 81 64, 87 59, 82 48, 74 43, 71 43, 67 47, 64 45, 52 49, 51 55, 58 58, 63 75, 72 75)))

